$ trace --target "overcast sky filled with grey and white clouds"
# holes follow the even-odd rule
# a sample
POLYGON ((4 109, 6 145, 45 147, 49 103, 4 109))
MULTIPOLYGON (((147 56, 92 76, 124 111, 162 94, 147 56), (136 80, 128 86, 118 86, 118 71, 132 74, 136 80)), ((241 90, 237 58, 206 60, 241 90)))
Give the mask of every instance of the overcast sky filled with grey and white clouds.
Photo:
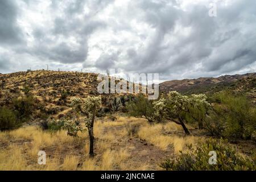
POLYGON ((1 73, 48 64, 173 80, 255 72, 255 60, 255 0, 0 0, 1 73))

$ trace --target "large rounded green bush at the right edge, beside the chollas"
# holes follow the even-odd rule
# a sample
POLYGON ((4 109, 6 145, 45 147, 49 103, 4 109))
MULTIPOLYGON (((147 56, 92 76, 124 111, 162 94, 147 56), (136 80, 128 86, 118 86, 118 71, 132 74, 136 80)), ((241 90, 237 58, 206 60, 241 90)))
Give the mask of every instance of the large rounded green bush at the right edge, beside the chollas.
POLYGON ((217 93, 214 99, 214 112, 206 121, 208 130, 215 130, 215 134, 229 139, 250 139, 256 130, 255 106, 246 97, 228 92, 217 93))

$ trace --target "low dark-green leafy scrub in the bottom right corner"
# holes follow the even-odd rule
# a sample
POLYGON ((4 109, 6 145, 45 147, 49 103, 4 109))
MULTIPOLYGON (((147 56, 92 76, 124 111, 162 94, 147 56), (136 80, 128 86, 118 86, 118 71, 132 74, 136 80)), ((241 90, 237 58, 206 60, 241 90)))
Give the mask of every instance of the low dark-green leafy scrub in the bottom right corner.
POLYGON ((255 170, 255 163, 230 146, 226 140, 207 139, 189 147, 187 152, 180 151, 176 160, 167 159, 160 164, 166 170, 174 171, 233 171, 255 170), (209 152, 217 154, 217 164, 209 164, 209 152))

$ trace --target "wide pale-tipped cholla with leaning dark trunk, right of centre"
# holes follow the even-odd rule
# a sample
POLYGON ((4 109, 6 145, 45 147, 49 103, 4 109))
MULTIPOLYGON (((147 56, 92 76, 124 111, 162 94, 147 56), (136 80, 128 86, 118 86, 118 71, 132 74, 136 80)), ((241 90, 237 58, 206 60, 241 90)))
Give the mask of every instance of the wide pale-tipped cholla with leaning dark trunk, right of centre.
POLYGON ((161 98, 153 104, 156 117, 164 117, 181 125, 185 134, 189 135, 190 133, 185 126, 183 117, 184 112, 189 112, 189 103, 189 97, 182 96, 180 93, 172 91, 167 94, 166 98, 161 98))

